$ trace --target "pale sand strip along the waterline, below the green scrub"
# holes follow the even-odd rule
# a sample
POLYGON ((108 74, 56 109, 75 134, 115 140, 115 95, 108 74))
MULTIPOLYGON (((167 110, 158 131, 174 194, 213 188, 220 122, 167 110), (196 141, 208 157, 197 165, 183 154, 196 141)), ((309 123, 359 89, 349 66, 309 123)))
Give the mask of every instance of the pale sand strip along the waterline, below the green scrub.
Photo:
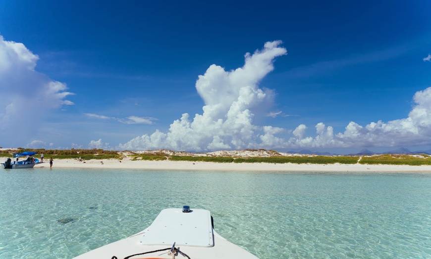
MULTIPOLYGON (((50 168, 48 160, 35 168, 50 168)), ((189 161, 131 161, 56 159, 54 168, 94 169, 141 169, 141 170, 198 170, 198 171, 245 171, 245 172, 396 172, 431 173, 431 166, 398 165, 345 165, 345 164, 269 164, 269 163, 212 163, 189 161)))

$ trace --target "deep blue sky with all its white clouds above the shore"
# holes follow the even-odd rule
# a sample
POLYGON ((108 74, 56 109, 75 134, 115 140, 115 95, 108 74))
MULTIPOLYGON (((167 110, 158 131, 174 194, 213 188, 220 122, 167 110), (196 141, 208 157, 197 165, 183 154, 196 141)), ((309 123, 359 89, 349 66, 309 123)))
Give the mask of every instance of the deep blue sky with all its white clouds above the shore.
POLYGON ((430 149, 429 10, 0 0, 0 146, 430 149))

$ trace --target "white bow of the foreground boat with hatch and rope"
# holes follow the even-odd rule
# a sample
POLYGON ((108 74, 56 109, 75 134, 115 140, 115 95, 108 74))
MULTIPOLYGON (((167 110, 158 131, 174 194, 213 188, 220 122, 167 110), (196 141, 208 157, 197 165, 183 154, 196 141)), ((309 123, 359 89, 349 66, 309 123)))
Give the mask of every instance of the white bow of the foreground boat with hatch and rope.
POLYGON ((74 259, 258 259, 216 233, 209 211, 164 209, 145 230, 74 259))

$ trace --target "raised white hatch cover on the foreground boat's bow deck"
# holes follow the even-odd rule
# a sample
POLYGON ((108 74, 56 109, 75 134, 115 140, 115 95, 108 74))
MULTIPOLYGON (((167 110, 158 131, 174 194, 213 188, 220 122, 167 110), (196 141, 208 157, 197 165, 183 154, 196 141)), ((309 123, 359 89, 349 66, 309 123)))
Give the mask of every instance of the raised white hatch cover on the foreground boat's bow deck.
POLYGON ((214 246, 211 214, 207 210, 165 209, 144 231, 143 245, 214 246))

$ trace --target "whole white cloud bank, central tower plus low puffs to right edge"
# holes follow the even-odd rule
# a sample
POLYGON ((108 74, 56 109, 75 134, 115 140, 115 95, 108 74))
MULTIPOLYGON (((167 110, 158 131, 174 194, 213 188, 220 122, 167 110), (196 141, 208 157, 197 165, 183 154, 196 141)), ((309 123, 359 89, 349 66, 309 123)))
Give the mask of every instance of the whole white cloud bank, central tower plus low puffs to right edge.
POLYGON ((208 151, 244 148, 351 148, 431 144, 431 87, 418 91, 408 118, 372 122, 365 127, 350 122, 344 132, 334 133, 331 126, 318 123, 315 137, 306 136, 306 125, 288 130, 257 126, 254 119, 273 98, 269 89, 259 88, 271 72, 276 57, 285 55, 281 42, 267 42, 262 50, 245 55, 242 68, 225 71, 211 65, 199 76, 196 89, 205 102, 203 114, 190 120, 185 113, 164 133, 156 130, 131 139, 117 148, 122 150, 173 149, 208 151), (283 138, 281 134, 290 133, 283 138))

